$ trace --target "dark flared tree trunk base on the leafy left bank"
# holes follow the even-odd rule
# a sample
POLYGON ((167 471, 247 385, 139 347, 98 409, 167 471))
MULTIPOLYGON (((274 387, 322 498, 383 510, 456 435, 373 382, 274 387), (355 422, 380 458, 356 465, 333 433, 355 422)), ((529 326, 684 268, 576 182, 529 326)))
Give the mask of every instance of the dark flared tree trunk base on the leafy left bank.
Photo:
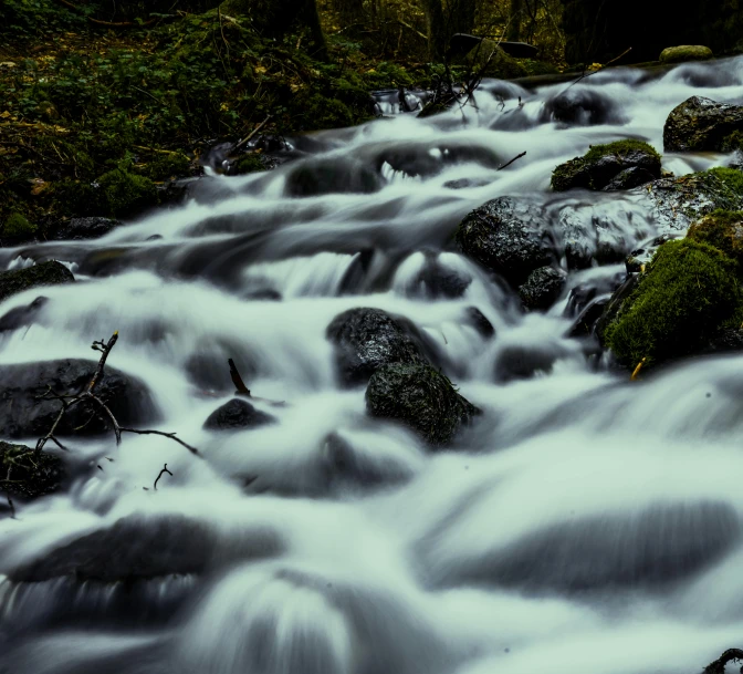
POLYGON ((255 30, 269 38, 306 29, 315 48, 312 55, 327 55, 315 0, 224 0, 220 10, 223 14, 249 17, 255 30))

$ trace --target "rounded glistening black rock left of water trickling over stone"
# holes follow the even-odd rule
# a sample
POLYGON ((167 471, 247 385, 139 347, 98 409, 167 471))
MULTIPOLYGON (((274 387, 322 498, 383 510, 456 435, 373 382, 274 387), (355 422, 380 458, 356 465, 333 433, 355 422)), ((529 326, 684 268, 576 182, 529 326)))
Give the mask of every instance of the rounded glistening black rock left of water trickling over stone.
POLYGON ((457 242, 464 255, 517 287, 555 258, 554 241, 543 217, 531 203, 500 197, 462 220, 457 242))

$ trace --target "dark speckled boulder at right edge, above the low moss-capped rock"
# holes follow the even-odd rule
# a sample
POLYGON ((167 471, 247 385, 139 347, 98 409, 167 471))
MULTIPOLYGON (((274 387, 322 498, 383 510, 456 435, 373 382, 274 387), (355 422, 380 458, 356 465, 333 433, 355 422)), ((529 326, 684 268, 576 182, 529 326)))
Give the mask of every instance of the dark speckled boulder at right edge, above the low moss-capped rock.
POLYGON ((666 152, 722 151, 729 137, 743 131, 743 106, 692 96, 677 105, 666 120, 666 152))

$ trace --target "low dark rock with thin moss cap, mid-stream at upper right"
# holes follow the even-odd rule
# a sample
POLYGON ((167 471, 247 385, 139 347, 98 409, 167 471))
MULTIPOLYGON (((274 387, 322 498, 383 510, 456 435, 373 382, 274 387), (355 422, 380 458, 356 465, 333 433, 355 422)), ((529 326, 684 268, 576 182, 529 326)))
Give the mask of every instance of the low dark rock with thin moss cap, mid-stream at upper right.
POLYGON ((595 145, 583 157, 561 164, 552 174, 552 188, 628 189, 657 178, 660 155, 648 143, 627 138, 595 145))

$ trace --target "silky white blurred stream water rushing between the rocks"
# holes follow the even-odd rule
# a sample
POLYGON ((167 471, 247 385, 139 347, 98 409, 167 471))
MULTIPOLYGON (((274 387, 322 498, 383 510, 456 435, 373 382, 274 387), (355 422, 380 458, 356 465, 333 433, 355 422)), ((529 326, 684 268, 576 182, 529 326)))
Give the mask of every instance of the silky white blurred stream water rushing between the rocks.
MULTIPOLYGON (((156 427, 205 456, 157 436, 70 443, 69 489, 0 519, 0 672, 678 673, 740 645, 743 357, 630 383, 565 336, 567 291, 525 315, 451 237, 511 195, 630 250, 657 228, 637 194, 555 195, 552 169, 621 137, 661 149, 690 95, 743 98, 743 60, 596 74, 571 95, 597 115, 569 125, 550 115, 566 86, 486 82, 477 107, 430 120, 383 100, 391 118, 291 141, 297 158, 279 169, 208 176, 182 207, 103 239, 0 250, 3 269, 59 259, 77 278, 44 289, 34 324, 0 338, 0 363, 92 357, 118 330, 109 365, 146 382, 156 427), (463 294, 433 297, 431 265, 463 294), (409 319, 483 409, 448 450, 367 417, 364 388, 337 384, 325 330, 354 307, 409 319), (552 367, 498 375, 533 354, 552 367), (232 395, 228 357, 279 423, 202 428, 232 395), (96 531, 106 564, 156 557, 160 571, 10 578, 96 531)), ((607 292, 622 270, 572 271, 568 290, 607 292)))

